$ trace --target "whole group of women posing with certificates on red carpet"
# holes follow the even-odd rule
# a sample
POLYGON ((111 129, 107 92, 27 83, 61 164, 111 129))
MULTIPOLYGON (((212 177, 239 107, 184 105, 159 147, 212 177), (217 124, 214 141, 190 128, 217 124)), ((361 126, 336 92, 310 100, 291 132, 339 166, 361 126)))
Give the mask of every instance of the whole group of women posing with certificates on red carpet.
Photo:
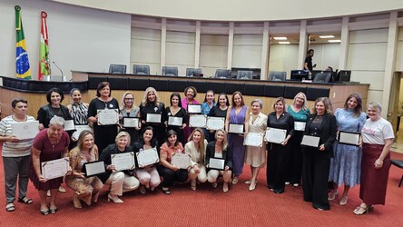
POLYGON ((153 192, 160 184, 165 194, 171 193, 175 183, 187 181, 193 191, 198 183, 205 182, 215 188, 220 175, 222 191, 228 192, 230 183, 239 182, 244 163, 251 166, 251 178, 245 182, 250 191, 255 190, 260 169, 267 163, 267 185, 272 192, 282 193, 287 184, 298 187, 302 183, 303 199, 312 202, 315 209, 329 210, 329 201, 338 197, 341 184, 344 184, 344 192, 340 205, 347 203, 349 188, 361 184, 359 196, 363 202, 354 211, 356 214, 367 213, 373 205, 385 203, 393 130, 391 124, 381 118, 380 104, 371 103, 367 114, 362 113, 359 94, 349 95, 344 108, 337 109, 335 114, 328 98, 317 99, 310 114, 305 94, 297 94, 289 106, 279 97, 272 106, 273 111, 266 115, 260 113, 263 106, 260 99, 254 99, 248 106, 242 94, 235 92, 231 104, 226 94, 219 94, 216 104, 213 91, 208 91, 202 103, 202 114, 225 118, 223 128, 215 131, 189 125, 187 106, 199 104, 195 87, 186 88, 183 99, 180 94, 172 93, 168 107, 152 87, 145 90, 139 106, 134 105, 134 95, 130 92, 123 94, 121 106, 111 94, 110 84, 103 82, 97 87, 97 97, 90 104, 84 104, 80 91, 74 89, 72 104, 64 107, 61 104, 64 94, 57 88, 51 89, 46 94, 48 104, 38 111, 41 131, 29 140, 19 140, 18 135, 12 134, 12 123, 34 121, 34 117, 26 115, 27 102, 13 100, 14 114, 0 123, 6 211, 15 210, 17 178, 18 202, 33 202, 25 196, 30 178, 40 195, 40 212, 44 215, 57 212, 55 198, 57 192, 64 191, 60 187, 63 178, 44 178, 40 163, 62 157, 69 157, 70 167, 64 182, 74 190, 75 208, 81 208, 82 201, 88 205, 97 202, 104 184, 110 187, 108 201, 112 202, 123 202, 119 198, 123 192, 137 188, 141 193, 153 192), (103 109, 118 109, 120 123, 98 123, 98 112, 103 109), (148 114, 159 114, 161 121, 148 121, 148 114), (182 125, 170 125, 170 116, 182 118, 182 125), (125 128, 123 117, 139 117, 140 121, 133 128, 125 128), (64 132, 64 120, 73 120, 76 125, 90 124, 93 131, 84 130, 74 137, 73 132, 64 132), (243 133, 229 133, 233 123, 243 124, 243 133), (284 131, 284 139, 262 142, 260 146, 243 145, 248 133, 264 134, 267 128, 284 131), (338 132, 361 133, 359 144, 338 143, 338 132), (305 136, 319 138, 318 146, 301 145, 305 136), (141 168, 135 159, 137 168, 119 171, 111 160, 111 155, 116 153, 150 150, 159 154, 159 162, 141 168), (180 169, 172 164, 175 153, 189 155, 188 168, 180 169), (223 159, 223 168, 210 168, 211 158, 223 159), (82 173, 84 163, 94 161, 103 161, 106 171, 86 177, 82 173), (329 194, 328 182, 332 183, 329 194), (50 191, 50 202, 47 202, 46 191, 50 191))

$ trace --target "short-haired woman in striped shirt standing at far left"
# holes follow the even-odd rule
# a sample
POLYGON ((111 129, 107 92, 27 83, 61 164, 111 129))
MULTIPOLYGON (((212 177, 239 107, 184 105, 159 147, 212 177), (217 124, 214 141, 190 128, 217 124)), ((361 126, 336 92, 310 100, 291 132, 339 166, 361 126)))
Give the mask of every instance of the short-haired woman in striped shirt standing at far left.
MULTIPOLYGON (((18 180, 18 202, 31 204, 33 201, 26 197, 29 179, 29 163, 31 160, 31 145, 34 141, 34 134, 31 138, 19 139, 19 134, 13 132, 12 124, 34 123, 33 116, 26 115, 28 102, 16 98, 11 102, 13 115, 6 116, 0 122, 0 142, 3 143, 2 156, 5 167, 5 211, 14 212, 15 189, 18 180)), ((37 122, 34 125, 38 130, 37 122)))

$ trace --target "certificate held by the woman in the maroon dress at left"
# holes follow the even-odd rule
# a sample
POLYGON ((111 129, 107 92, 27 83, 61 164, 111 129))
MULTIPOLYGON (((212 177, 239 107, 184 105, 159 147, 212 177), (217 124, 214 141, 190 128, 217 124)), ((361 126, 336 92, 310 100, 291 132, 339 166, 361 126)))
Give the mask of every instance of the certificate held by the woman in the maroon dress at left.
POLYGON ((42 175, 46 180, 63 177, 69 169, 69 158, 60 158, 41 163, 42 175))

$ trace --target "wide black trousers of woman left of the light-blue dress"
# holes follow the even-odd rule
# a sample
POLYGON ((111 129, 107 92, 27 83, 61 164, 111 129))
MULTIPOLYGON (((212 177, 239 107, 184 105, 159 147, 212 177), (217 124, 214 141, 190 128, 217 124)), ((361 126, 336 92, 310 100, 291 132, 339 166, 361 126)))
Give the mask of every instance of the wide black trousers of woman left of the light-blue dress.
POLYGON ((328 201, 330 159, 317 148, 306 148, 302 160, 304 201, 312 202, 314 208, 330 210, 328 201))

